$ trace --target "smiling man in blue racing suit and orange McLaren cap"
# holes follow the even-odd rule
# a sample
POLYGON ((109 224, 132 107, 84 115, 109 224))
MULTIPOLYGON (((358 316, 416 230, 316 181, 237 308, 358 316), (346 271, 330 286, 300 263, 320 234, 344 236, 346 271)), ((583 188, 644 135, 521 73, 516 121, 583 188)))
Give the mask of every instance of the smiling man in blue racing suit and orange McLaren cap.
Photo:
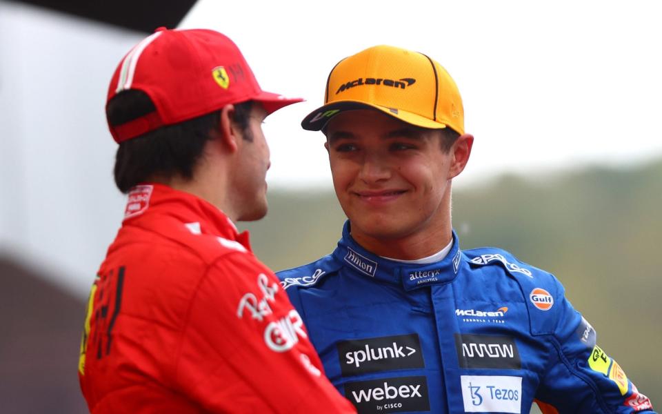
POLYGON ((325 133, 349 220, 331 255, 279 277, 359 413, 652 413, 554 276, 460 249, 451 182, 473 137, 439 63, 390 46, 345 58, 302 126, 325 133))

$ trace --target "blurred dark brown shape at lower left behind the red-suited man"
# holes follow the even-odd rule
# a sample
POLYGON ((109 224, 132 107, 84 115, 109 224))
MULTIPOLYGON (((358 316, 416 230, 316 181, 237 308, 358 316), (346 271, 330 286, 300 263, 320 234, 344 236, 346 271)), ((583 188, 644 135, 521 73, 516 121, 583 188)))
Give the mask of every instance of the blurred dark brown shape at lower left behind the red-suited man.
POLYGON ((88 412, 77 377, 85 304, 46 280, 0 253, 2 413, 88 412))

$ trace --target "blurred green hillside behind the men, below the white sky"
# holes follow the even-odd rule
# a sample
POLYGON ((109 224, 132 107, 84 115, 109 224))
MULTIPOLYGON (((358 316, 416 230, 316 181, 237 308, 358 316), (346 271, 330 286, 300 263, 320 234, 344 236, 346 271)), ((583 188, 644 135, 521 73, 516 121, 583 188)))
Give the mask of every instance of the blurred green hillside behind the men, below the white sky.
MULTIPOLYGON (((662 395, 662 161, 546 177, 504 176, 455 190, 461 247, 498 246, 548 270, 641 393, 662 395)), ((332 193, 269 195, 269 214, 242 224, 274 270, 330 253, 345 220, 332 193)), ((659 407, 658 407, 659 409, 659 407)))

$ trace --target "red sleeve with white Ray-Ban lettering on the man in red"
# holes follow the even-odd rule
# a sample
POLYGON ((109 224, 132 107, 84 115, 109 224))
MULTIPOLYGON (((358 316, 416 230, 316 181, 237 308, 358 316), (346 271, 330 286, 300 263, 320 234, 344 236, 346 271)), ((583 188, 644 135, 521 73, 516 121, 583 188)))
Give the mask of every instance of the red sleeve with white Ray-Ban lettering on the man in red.
POLYGON ((323 373, 277 277, 250 253, 217 260, 197 286, 176 382, 217 412, 354 413, 323 373))

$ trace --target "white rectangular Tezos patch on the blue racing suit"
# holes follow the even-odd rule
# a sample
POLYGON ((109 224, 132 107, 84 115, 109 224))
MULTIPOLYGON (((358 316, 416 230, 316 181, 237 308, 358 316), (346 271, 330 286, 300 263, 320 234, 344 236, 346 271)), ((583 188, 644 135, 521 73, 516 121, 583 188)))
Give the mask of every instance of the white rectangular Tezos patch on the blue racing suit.
POLYGON ((522 377, 461 375, 467 413, 521 413, 522 377))

